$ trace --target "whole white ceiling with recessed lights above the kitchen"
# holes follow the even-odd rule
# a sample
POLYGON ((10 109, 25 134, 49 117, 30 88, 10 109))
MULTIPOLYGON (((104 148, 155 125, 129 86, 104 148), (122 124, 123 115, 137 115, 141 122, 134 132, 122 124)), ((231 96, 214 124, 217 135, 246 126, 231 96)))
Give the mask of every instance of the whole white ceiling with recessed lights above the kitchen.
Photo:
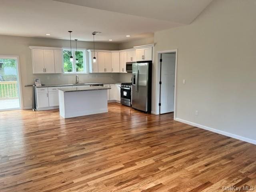
POLYGON ((126 42, 190 24, 211 1, 0 0, 0 34, 69 39, 73 30, 72 39, 92 41, 100 31, 96 41, 126 42))

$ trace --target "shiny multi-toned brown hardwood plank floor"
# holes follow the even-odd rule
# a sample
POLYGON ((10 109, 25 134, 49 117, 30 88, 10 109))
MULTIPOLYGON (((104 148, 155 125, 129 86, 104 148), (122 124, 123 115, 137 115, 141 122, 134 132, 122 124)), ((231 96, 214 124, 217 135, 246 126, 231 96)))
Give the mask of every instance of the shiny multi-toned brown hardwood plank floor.
POLYGON ((0 192, 255 188, 255 159, 253 144, 116 103, 69 119, 58 110, 0 112, 0 192))

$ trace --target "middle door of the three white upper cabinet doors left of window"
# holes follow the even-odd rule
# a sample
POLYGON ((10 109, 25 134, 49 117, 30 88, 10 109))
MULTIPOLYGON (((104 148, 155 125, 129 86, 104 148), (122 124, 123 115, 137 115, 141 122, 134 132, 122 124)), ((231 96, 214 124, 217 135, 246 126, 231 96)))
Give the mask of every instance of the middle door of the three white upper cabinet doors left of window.
POLYGON ((54 50, 44 49, 44 73, 55 73, 54 50))

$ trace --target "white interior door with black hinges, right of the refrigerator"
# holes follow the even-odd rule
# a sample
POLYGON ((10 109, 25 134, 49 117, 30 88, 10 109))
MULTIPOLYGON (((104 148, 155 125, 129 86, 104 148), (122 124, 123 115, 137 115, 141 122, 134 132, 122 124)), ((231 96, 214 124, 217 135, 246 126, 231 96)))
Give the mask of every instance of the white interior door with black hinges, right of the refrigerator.
POLYGON ((162 54, 160 114, 174 112, 175 57, 175 53, 162 54))

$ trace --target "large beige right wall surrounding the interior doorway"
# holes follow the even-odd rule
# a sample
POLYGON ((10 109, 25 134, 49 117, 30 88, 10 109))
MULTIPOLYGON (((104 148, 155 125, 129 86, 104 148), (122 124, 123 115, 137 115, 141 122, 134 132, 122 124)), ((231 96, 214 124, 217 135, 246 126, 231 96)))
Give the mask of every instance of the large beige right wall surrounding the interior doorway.
POLYGON ((256 0, 214 0, 192 24, 156 32, 154 41, 155 58, 178 49, 177 118, 256 140, 256 0))

